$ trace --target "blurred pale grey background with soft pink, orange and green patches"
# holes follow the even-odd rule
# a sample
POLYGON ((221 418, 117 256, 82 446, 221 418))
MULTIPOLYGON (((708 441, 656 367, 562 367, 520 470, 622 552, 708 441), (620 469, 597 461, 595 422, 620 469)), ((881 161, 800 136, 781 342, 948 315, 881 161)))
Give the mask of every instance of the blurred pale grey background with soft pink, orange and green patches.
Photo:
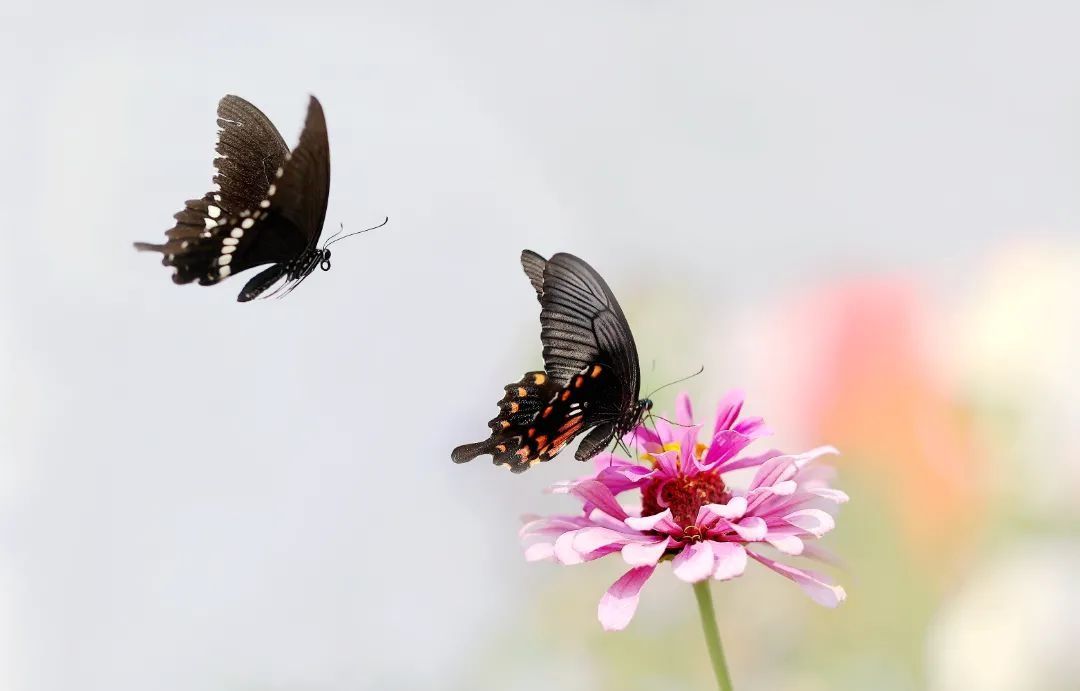
POLYGON ((621 564, 524 563, 569 452, 449 461, 541 363, 523 247, 843 453, 848 600, 717 584, 737 688, 1080 688, 1080 6, 814 4, 5 4, 0 688, 710 688, 685 584, 605 634, 621 564), (286 300, 131 247, 226 93, 391 219, 286 300))

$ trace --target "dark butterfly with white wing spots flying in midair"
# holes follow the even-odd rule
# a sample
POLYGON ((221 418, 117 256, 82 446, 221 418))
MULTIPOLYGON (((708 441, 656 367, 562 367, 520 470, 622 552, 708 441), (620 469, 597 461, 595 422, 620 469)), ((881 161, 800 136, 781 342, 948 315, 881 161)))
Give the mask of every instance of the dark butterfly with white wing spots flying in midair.
POLYGON ((269 263, 237 299, 253 300, 280 281, 278 290, 265 297, 283 289, 287 295, 315 267, 329 270, 330 244, 357 234, 335 235, 319 247, 330 189, 323 107, 311 97, 293 151, 270 119, 240 96, 218 103, 217 125, 218 189, 188 201, 173 217, 176 225, 165 231, 163 244, 137 242, 135 248, 164 255, 161 262, 174 268, 175 283, 214 285, 269 263))

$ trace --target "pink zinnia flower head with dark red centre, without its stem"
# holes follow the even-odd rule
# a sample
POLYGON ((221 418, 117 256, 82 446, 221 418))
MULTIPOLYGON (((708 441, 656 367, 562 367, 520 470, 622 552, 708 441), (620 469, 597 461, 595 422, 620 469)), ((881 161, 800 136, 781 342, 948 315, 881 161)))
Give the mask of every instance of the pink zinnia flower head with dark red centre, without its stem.
POLYGON ((631 569, 600 599, 598 615, 608 631, 630 623, 642 586, 665 558, 671 558, 675 577, 688 583, 742 575, 751 558, 794 581, 814 601, 838 605, 845 598, 842 587, 760 552, 771 547, 786 555, 827 558, 807 543, 833 529, 827 510, 848 497, 828 486, 831 469, 811 463, 836 449, 740 456, 754 439, 770 433, 760 418, 739 420, 742 404, 741 392, 724 398, 706 446, 698 443, 702 425, 693 423, 690 398, 680 394, 678 426, 659 419, 656 431, 640 425, 624 439, 643 451, 642 462, 602 453, 594 473, 552 488, 579 499, 583 511, 528 520, 521 533, 526 558, 569 566, 620 554, 631 569), (728 473, 740 469, 757 469, 744 489, 726 482, 728 473), (640 492, 639 510, 618 500, 634 490, 640 492))

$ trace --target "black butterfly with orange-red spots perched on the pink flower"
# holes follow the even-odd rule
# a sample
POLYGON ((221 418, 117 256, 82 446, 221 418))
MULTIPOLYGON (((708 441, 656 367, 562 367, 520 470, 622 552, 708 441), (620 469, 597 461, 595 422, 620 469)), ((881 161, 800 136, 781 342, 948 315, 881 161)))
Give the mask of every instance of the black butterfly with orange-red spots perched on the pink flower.
POLYGON ((526 249, 522 266, 540 300, 544 371, 505 387, 499 416, 487 423, 491 436, 454 449, 456 463, 490 453, 496 465, 521 473, 593 429, 576 453, 586 461, 652 407, 638 401, 637 347, 604 279, 568 254, 548 260, 526 249))

